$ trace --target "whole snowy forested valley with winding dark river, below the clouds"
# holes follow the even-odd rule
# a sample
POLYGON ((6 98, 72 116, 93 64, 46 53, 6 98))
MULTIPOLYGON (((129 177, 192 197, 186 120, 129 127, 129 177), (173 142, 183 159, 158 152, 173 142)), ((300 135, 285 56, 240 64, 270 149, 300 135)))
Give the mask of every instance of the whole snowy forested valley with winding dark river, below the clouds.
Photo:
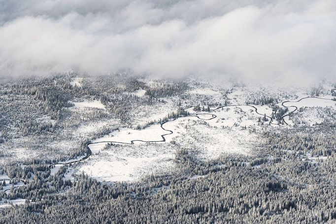
POLYGON ((335 83, 265 89, 1 80, 0 222, 333 222, 335 83))

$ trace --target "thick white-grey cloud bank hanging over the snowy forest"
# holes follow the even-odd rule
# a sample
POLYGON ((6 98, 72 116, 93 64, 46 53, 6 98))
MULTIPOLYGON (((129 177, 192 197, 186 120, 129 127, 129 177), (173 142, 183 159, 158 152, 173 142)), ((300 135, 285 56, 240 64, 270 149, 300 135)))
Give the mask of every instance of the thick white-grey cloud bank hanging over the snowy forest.
POLYGON ((333 0, 9 0, 1 7, 1 75, 129 68, 168 77, 336 76, 333 0))

